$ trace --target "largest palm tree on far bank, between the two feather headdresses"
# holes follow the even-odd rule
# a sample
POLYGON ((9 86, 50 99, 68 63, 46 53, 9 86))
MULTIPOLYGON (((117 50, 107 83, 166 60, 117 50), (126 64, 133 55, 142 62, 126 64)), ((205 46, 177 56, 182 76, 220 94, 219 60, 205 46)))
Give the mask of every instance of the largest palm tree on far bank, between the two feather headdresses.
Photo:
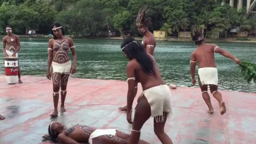
POLYGON ((182 10, 175 11, 171 18, 171 27, 174 31, 178 32, 179 38, 179 29, 186 30, 189 25, 189 19, 186 16, 185 12, 182 10))

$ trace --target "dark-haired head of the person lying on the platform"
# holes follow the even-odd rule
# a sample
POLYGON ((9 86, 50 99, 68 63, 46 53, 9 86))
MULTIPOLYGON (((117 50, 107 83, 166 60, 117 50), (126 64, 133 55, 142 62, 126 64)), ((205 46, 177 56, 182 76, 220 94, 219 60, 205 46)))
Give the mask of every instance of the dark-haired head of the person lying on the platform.
POLYGON ((60 122, 52 122, 48 126, 48 134, 43 136, 46 140, 51 140, 54 143, 60 143, 58 140, 58 135, 64 131, 64 125, 60 122))

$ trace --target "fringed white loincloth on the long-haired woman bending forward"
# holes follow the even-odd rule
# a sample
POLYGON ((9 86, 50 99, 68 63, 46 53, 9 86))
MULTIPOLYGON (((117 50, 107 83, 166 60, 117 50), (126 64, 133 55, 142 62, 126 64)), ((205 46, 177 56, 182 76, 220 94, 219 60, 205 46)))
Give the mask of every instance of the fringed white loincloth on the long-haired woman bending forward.
POLYGON ((172 113, 171 90, 168 85, 165 84, 165 85, 158 85, 158 86, 152 87, 150 89, 143 91, 142 94, 144 94, 144 96, 147 99, 147 102, 150 105, 151 116, 155 117, 157 122, 163 121, 163 118, 164 118, 163 112, 166 112, 169 114, 172 113), (160 120, 160 117, 157 117, 157 116, 162 116, 161 120, 160 120))

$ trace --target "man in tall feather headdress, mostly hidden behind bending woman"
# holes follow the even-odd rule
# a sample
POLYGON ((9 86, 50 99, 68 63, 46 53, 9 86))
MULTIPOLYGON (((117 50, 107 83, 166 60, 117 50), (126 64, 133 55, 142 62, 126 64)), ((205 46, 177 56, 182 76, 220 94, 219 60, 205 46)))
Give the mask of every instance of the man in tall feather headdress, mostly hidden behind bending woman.
MULTIPOLYGON (((143 34, 143 39, 141 42, 141 45, 143 45, 143 48, 146 50, 147 53, 153 55, 156 42, 155 42, 155 37, 154 35, 148 30, 147 25, 150 23, 150 17, 146 19, 146 14, 147 14, 147 7, 141 8, 139 11, 139 14, 137 15, 137 20, 136 20, 136 25, 138 27, 138 31, 140 34, 143 34)), ((171 89, 176 89, 176 85, 170 84, 171 89)), ((138 88, 136 87, 136 91, 138 88)), ((137 93, 137 92, 136 92, 137 93)), ((139 98, 141 95, 139 96, 139 98)), ((119 107, 118 108, 121 111, 126 111, 127 106, 124 107, 119 107)))

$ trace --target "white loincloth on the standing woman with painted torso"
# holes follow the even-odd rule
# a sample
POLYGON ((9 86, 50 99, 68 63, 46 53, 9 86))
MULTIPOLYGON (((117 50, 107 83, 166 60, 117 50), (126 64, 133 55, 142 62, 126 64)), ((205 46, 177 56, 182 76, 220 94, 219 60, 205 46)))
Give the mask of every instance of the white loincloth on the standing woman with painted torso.
POLYGON ((71 61, 65 63, 52 62, 53 73, 70 74, 71 61))

